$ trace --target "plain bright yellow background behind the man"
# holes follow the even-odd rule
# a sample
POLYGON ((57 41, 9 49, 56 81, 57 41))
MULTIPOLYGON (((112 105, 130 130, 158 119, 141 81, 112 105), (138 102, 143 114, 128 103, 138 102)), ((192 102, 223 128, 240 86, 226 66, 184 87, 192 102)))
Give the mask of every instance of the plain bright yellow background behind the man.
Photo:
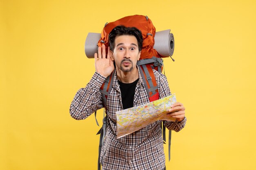
POLYGON ((88 32, 134 14, 175 37, 165 73, 188 121, 167 169, 256 169, 254 0, 0 0, 1 170, 97 168, 94 116, 69 115, 95 70, 83 46, 88 32))

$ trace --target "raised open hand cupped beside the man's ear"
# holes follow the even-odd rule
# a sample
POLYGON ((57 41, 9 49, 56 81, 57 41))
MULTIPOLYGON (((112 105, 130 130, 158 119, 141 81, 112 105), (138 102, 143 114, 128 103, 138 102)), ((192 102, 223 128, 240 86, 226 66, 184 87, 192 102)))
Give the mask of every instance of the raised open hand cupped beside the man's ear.
POLYGON ((95 69, 104 77, 108 77, 115 69, 114 62, 110 59, 110 52, 110 47, 108 47, 108 55, 106 57, 106 46, 103 44, 102 48, 98 48, 98 54, 94 54, 95 69))

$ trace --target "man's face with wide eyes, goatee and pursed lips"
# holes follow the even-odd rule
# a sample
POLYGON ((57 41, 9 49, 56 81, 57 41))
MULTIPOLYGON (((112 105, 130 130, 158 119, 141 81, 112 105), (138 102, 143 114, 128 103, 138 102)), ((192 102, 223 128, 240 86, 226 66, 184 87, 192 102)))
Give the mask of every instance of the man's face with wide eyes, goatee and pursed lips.
POLYGON ((115 60, 117 69, 123 72, 130 72, 136 68, 141 51, 138 41, 133 35, 120 35, 115 38, 115 48, 112 51, 111 59, 115 60))

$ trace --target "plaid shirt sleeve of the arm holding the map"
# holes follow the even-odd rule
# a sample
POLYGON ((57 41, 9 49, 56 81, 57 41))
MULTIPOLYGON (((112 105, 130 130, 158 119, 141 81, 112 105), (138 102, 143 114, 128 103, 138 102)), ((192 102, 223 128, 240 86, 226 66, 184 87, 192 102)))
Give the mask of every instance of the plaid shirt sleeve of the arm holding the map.
MULTIPOLYGON (((171 95, 170 88, 169 88, 166 76, 161 74, 161 76, 159 76, 159 78, 160 78, 160 80, 159 80, 160 81, 159 98, 164 98, 166 96, 171 95)), ((178 132, 181 129, 183 129, 184 126, 186 125, 186 117, 181 122, 179 122, 177 120, 175 120, 175 122, 163 120, 163 122, 164 122, 164 126, 167 129, 178 132)))

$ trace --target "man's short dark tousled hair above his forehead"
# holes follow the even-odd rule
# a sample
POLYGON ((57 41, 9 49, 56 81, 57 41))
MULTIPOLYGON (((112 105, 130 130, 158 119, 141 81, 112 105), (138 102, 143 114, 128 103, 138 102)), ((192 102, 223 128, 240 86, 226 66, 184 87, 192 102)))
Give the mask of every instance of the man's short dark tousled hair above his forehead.
POLYGON ((110 50, 113 51, 115 48, 115 38, 120 35, 133 35, 138 41, 139 51, 142 49, 143 37, 142 33, 138 28, 126 27, 123 25, 116 26, 108 35, 110 50))

